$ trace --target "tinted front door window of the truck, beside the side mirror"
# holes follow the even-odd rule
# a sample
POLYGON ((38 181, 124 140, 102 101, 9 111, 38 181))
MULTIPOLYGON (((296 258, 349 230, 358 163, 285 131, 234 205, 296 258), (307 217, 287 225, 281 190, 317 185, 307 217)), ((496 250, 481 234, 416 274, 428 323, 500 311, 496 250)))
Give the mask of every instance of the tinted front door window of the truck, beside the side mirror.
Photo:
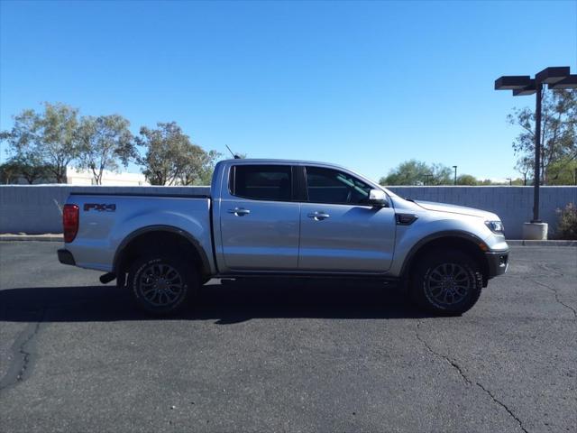
POLYGON ((366 205, 371 187, 342 171, 307 167, 307 191, 311 203, 366 205))

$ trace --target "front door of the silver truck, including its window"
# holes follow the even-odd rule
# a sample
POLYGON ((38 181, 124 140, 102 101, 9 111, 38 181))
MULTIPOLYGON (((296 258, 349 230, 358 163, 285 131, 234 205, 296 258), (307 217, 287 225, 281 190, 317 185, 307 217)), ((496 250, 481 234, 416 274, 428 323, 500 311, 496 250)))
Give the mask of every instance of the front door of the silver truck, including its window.
POLYGON ((298 269, 386 272, 395 243, 395 211, 368 205, 371 186, 334 169, 305 168, 298 269))

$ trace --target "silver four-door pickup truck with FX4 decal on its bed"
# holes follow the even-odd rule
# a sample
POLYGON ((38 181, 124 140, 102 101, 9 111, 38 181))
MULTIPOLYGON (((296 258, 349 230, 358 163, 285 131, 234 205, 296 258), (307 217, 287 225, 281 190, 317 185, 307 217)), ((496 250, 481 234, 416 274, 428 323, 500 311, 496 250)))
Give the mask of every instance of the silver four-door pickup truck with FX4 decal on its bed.
POLYGON ((418 306, 462 314, 508 267, 495 214, 318 162, 221 161, 206 196, 71 194, 63 225, 60 263, 106 272, 160 315, 211 278, 272 275, 398 281, 418 306))

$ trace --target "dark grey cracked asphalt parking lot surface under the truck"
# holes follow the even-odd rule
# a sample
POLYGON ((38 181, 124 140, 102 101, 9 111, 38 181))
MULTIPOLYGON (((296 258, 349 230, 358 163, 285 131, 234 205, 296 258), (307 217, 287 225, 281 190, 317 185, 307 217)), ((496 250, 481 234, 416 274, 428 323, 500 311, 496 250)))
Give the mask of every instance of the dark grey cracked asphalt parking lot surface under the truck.
POLYGON ((211 281, 147 318, 0 243, 0 430, 575 431, 577 249, 514 247, 463 317, 366 281, 211 281))

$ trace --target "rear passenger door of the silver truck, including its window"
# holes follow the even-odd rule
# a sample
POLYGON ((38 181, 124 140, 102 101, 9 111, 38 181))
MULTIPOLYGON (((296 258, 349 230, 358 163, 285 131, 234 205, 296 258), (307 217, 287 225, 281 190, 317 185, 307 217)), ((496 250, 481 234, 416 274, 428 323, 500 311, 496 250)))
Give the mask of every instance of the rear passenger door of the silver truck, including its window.
POLYGON ((230 167, 221 196, 220 230, 229 270, 294 271, 298 266, 300 204, 293 201, 293 167, 230 167))

